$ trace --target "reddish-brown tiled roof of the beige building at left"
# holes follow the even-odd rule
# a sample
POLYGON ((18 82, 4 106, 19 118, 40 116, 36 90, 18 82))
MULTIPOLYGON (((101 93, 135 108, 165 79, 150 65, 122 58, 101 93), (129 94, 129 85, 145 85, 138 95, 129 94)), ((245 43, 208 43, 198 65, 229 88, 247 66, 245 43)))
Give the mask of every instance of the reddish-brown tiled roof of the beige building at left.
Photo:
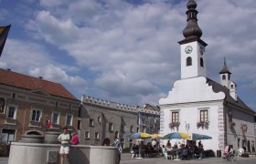
POLYGON ((69 90, 67 90, 59 83, 54 83, 37 77, 29 77, 27 75, 19 74, 11 70, 5 70, 1 68, 0 77, 1 85, 20 87, 32 91, 43 90, 44 92, 52 96, 78 100, 69 92, 69 90))

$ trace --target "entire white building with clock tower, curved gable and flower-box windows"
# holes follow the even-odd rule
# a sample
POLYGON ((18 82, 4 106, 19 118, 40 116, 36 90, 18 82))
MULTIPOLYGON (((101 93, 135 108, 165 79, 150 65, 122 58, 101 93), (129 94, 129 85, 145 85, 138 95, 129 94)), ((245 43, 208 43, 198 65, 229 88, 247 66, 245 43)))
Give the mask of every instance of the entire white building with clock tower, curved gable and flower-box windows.
POLYGON ((187 27, 181 47, 181 79, 167 97, 159 100, 160 134, 185 132, 205 134, 204 149, 223 150, 230 145, 255 152, 255 111, 237 95, 237 86, 230 80, 224 60, 219 72, 220 84, 207 77, 205 49, 201 29, 197 26, 197 3, 187 3, 187 27))

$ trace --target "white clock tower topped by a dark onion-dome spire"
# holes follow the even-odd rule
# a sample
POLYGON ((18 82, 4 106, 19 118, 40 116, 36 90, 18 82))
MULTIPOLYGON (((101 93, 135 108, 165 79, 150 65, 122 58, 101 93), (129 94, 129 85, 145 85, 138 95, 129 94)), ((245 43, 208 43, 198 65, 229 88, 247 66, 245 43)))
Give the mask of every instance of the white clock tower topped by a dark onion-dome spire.
POLYGON ((181 49, 181 79, 189 77, 206 77, 205 47, 202 30, 197 26, 197 3, 187 2, 187 26, 183 30, 185 39, 179 41, 181 49))

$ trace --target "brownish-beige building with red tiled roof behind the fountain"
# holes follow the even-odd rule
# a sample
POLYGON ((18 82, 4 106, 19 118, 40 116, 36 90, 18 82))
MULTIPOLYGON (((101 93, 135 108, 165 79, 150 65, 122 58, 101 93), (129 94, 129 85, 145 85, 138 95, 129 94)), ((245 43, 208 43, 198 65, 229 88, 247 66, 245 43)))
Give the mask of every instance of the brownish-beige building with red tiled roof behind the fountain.
POLYGON ((6 142, 20 140, 27 130, 77 130, 79 107, 59 83, 0 69, 0 134, 6 142))

